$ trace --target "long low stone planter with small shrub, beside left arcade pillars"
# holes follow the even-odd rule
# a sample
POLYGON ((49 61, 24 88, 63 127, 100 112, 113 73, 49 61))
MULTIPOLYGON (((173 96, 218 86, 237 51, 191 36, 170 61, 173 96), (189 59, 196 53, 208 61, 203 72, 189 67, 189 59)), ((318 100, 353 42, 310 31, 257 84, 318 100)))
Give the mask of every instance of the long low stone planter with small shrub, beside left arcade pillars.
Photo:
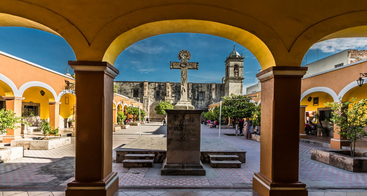
POLYGON ((56 147, 62 147, 71 143, 71 137, 50 137, 48 140, 36 140, 35 138, 26 138, 22 140, 13 140, 10 143, 12 147, 24 147, 25 150, 49 150, 56 147))

